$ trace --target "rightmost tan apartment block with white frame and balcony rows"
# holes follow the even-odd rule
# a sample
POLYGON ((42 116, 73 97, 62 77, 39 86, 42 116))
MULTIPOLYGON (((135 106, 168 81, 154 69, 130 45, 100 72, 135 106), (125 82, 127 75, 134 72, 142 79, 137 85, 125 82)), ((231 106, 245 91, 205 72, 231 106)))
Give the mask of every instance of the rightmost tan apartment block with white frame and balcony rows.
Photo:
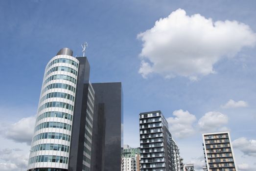
POLYGON ((230 133, 203 133, 205 162, 208 171, 237 171, 230 133))

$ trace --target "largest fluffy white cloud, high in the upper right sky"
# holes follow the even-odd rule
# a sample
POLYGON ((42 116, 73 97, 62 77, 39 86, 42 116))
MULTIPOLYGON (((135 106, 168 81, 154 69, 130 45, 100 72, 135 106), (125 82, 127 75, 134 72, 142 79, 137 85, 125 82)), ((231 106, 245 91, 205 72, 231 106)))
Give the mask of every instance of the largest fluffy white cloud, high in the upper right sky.
POLYGON ((196 80, 214 73, 213 65, 233 57, 245 46, 254 46, 256 34, 238 21, 212 21, 178 9, 138 35, 143 42, 139 73, 165 78, 177 75, 196 80), (235 36, 234 36, 235 35, 235 36))

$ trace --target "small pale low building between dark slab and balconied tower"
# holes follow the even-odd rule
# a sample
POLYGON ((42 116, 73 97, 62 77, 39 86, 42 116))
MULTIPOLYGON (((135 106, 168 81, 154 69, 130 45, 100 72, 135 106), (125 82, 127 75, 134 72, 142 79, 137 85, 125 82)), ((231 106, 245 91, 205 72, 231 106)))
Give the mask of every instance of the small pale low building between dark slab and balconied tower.
POLYGON ((121 171, 140 171, 140 148, 130 148, 124 145, 121 171))

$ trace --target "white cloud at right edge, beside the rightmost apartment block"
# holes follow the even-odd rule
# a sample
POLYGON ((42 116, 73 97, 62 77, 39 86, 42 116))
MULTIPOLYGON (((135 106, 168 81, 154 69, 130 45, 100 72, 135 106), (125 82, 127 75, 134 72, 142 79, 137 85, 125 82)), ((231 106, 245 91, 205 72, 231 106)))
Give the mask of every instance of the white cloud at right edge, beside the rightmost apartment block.
POLYGON ((247 140, 245 137, 238 138, 232 142, 233 148, 241 150, 245 155, 256 157, 256 140, 247 140))

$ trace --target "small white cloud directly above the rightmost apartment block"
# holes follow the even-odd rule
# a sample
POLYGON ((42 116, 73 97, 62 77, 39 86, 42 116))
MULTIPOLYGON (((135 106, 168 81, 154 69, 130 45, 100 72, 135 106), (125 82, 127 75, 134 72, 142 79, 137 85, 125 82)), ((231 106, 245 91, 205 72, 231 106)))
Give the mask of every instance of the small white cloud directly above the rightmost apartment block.
POLYGON ((198 126, 203 132, 212 132, 216 130, 223 131, 224 129, 228 129, 224 127, 228 121, 229 118, 227 115, 216 111, 210 111, 199 119, 198 126))

